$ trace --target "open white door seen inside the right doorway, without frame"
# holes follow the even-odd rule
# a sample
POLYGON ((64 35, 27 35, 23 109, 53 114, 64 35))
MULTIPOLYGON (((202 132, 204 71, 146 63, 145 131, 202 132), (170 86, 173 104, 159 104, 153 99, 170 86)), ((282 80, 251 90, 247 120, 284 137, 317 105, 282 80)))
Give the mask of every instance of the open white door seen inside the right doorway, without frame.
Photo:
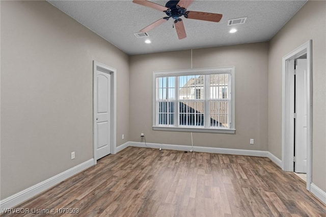
POLYGON ((295 169, 307 173, 307 59, 297 59, 295 67, 295 169))

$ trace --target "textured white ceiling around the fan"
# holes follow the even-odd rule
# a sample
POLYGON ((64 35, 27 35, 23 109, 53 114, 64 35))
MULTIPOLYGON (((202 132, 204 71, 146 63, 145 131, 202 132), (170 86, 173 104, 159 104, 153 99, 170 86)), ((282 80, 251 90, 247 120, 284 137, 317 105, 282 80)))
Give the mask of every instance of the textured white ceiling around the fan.
MULTIPOLYGON (((189 11, 223 14, 220 22, 183 19, 187 37, 179 40, 173 20, 148 32, 149 37, 133 34, 166 16, 164 12, 131 1, 48 1, 85 25, 128 55, 213 47, 270 40, 306 3, 304 1, 202 1, 196 0, 189 11), (228 20, 248 17, 245 24, 228 26, 228 20), (238 32, 230 34, 236 28, 238 32), (149 38, 152 43, 145 44, 149 38)), ((165 6, 168 1, 152 1, 165 6)))

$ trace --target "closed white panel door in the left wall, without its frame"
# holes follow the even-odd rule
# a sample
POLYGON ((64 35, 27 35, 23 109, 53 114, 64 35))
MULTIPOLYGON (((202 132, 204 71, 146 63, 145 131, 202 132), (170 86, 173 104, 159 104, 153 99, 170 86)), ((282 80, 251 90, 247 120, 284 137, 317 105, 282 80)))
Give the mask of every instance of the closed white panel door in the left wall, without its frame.
POLYGON ((94 143, 96 159, 111 151, 111 74, 95 71, 94 82, 94 143))

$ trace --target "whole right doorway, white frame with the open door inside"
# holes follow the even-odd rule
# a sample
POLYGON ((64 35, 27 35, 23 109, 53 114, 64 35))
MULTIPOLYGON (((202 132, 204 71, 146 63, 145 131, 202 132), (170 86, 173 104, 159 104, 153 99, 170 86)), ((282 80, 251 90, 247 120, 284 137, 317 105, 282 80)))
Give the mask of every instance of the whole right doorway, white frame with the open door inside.
POLYGON ((282 169, 306 173, 311 183, 311 44, 309 40, 283 57, 282 169))

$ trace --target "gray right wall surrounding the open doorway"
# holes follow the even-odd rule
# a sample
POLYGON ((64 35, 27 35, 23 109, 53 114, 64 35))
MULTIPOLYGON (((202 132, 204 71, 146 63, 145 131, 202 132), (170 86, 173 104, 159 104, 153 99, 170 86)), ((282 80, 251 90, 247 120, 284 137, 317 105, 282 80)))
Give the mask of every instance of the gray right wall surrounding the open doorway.
POLYGON ((326 191, 326 2, 308 1, 268 52, 268 150, 282 157, 282 58, 312 39, 312 182, 326 191))

